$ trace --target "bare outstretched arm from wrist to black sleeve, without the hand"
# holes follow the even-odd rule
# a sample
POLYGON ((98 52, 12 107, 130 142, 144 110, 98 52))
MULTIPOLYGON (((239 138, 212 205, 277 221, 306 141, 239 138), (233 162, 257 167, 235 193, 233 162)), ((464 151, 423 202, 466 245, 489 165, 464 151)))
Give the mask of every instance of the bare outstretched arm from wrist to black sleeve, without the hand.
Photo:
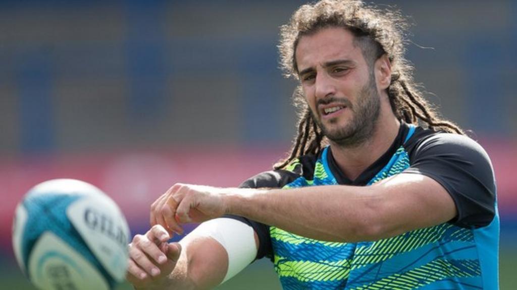
POLYGON ((328 241, 387 238, 447 222, 457 213, 447 191, 418 174, 372 186, 239 189, 227 201, 232 214, 328 241))

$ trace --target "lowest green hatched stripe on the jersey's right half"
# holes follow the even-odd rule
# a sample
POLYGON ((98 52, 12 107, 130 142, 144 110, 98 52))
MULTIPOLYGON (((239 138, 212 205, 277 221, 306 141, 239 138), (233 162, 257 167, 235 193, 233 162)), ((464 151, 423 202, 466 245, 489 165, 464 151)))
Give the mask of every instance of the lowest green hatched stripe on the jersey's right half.
POLYGON ((397 273, 353 290, 415 289, 447 278, 475 277, 481 275, 477 260, 435 260, 404 273, 397 273))

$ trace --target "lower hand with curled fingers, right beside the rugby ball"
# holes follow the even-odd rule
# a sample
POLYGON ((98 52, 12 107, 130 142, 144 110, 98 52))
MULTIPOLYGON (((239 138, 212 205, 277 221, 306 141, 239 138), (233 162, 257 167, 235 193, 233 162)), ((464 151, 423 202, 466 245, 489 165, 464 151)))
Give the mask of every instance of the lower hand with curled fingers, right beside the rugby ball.
POLYGON ((177 243, 167 243, 169 233, 155 225, 145 235, 135 235, 129 244, 127 280, 135 288, 163 288, 181 252, 177 243))

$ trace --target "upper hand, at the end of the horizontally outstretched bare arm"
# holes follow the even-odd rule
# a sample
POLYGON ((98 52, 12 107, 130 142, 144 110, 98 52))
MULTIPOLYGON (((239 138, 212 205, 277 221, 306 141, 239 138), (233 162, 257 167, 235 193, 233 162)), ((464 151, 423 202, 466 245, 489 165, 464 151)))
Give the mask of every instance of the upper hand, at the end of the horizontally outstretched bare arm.
POLYGON ((150 224, 183 234, 180 223, 203 222, 227 212, 222 188, 175 184, 151 205, 150 224))

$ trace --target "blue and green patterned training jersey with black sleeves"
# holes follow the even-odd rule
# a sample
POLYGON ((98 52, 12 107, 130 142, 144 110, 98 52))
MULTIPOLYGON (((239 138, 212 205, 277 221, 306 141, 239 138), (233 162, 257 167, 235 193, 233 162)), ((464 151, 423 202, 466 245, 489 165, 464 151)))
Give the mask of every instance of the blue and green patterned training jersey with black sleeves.
POLYGON ((302 237, 252 225, 284 289, 498 289, 499 217, 490 160, 473 140, 401 125, 397 140, 356 181, 347 180, 331 150, 301 157, 244 187, 285 189, 351 184, 368 186, 399 173, 430 176, 453 198, 458 216, 434 227, 359 243, 302 237))

